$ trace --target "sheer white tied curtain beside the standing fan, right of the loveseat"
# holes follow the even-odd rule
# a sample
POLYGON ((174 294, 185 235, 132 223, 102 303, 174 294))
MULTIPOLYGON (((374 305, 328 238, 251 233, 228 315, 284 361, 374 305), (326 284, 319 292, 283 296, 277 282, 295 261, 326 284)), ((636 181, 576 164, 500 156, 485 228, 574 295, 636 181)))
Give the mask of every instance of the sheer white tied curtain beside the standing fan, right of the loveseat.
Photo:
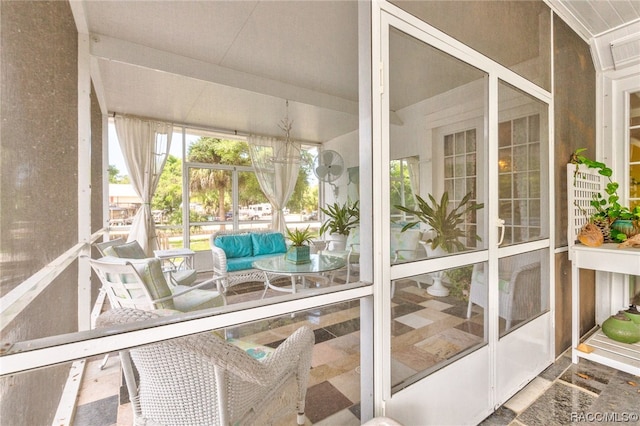
POLYGON ((301 146, 296 142, 255 135, 250 135, 247 142, 258 183, 272 205, 271 227, 284 233, 287 225, 283 210, 298 179, 301 146))

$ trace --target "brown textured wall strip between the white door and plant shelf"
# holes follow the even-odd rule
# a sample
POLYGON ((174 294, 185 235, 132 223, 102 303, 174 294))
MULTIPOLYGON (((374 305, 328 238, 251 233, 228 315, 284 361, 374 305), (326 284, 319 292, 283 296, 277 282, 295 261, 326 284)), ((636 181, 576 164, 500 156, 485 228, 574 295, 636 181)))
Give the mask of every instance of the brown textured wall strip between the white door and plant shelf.
MULTIPOLYGON (((589 45, 561 19, 554 19, 554 108, 556 247, 567 245, 566 165, 576 148, 594 154, 596 146, 596 73, 589 45)), ((595 274, 582 271, 581 320, 583 332, 595 326, 595 274)), ((556 354, 571 345, 571 264, 567 253, 556 255, 556 354)))

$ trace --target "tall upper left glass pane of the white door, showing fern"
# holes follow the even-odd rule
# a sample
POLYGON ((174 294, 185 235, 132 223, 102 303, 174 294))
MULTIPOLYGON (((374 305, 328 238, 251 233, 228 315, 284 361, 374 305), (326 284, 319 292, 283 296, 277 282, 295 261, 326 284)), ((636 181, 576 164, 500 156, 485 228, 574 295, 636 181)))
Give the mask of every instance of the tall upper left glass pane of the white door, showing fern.
POLYGON ((486 74, 395 28, 389 46, 391 251, 402 241, 411 261, 481 248, 486 74), (411 180, 397 172, 408 158, 411 180), (396 190, 403 181, 413 197, 396 190))

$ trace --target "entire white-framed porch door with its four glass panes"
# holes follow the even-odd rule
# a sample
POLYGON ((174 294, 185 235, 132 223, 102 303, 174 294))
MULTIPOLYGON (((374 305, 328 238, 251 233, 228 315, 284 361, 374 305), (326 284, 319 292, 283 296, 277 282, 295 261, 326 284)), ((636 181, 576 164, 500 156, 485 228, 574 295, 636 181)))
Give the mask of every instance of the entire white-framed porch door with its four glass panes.
POLYGON ((552 359, 547 108, 382 16, 386 414, 478 423, 552 359))

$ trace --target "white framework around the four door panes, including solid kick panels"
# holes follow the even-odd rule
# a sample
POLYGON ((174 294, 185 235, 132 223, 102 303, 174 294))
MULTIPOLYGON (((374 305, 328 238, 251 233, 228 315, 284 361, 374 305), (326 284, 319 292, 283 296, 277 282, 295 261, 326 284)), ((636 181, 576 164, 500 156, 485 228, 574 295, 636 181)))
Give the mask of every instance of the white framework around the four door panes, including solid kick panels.
MULTIPOLYGON (((375 151, 374 154, 377 154, 379 157, 374 155, 374 164, 379 165, 379 169, 374 169, 374 181, 382 182, 382 193, 383 197, 380 200, 379 204, 382 208, 382 215, 378 215, 374 217, 374 250, 375 253, 381 253, 383 258, 388 256, 389 250, 389 233, 390 233, 390 225, 389 225, 389 199, 388 199, 388 167, 385 172, 383 165, 388 164, 389 160, 389 131, 388 131, 388 123, 389 123, 389 105, 385 102, 385 94, 389 90, 389 66, 385 63, 387 61, 388 55, 388 45, 387 40, 389 39, 389 28, 397 28, 400 31, 409 34, 429 44, 437 49, 446 51, 448 54, 454 56, 455 58, 472 65, 482 71, 488 73, 487 77, 487 87, 488 87, 488 104, 486 110, 487 119, 487 132, 488 132, 488 143, 489 146, 498 145, 497 135, 498 135, 498 88, 500 82, 506 83, 519 89, 529 95, 532 98, 535 98, 547 106, 548 111, 548 127, 546 128, 547 132, 547 143, 549 146, 553 146, 553 102, 551 92, 546 91, 539 86, 533 84, 532 82, 522 78, 518 74, 515 74, 513 71, 503 67, 502 65, 492 61, 491 59, 478 54, 477 52, 470 49, 468 46, 460 43, 459 41, 449 37, 448 35, 442 33, 441 31, 431 27, 430 25, 420 21, 418 18, 407 14, 400 8, 395 5, 388 3, 380 3, 376 4, 376 6, 380 6, 380 9, 376 10, 376 7, 373 8, 374 11, 374 40, 381 40, 381 44, 379 46, 374 44, 373 48, 373 59, 372 63, 380 64, 381 71, 379 73, 373 73, 373 84, 372 87, 379 89, 378 92, 374 92, 374 111, 373 118, 374 122, 376 118, 380 118, 380 123, 374 126, 374 140, 380 139, 382 143, 382 149, 378 152, 375 151), (376 20, 377 16, 377 20, 376 20), (378 29, 376 29, 376 25, 380 25, 378 29), (376 32, 379 32, 379 36, 376 37, 376 32), (376 132, 380 132, 376 134, 376 132), (375 172, 378 172, 376 174, 375 172), (386 174, 385 174, 386 173, 386 174), (385 199, 385 196, 387 199, 385 199), (385 215, 386 212, 386 215, 385 215), (378 237, 378 238, 375 238, 378 237)), ((552 53, 552 52, 550 52, 552 53)), ((497 149, 490 149, 488 151, 487 161, 489 164, 497 164, 498 156, 497 149)), ((547 150, 548 154, 548 164, 553 164, 553 156, 552 151, 547 150)), ((544 160, 544 159, 543 159, 544 160)), ((497 168, 495 170, 490 170, 488 173, 489 178, 489 187, 491 187, 491 183, 497 183, 497 168)), ((548 196, 549 196, 549 212, 553 212, 554 210, 554 188, 550 185, 550 182, 553 182, 552 169, 548 168, 546 170, 546 174, 542 177, 547 179, 547 187, 548 187, 548 196)), ((547 189, 545 187, 545 189, 547 189)), ((374 203, 374 205, 376 205, 374 203)), ((524 353, 522 351, 523 346, 521 345, 521 337, 526 335, 531 336, 534 339, 536 351, 540 348, 544 349, 539 354, 536 353, 536 359, 534 363, 536 364, 534 369, 537 369, 541 364, 544 366, 548 366, 553 362, 554 353, 555 353, 555 340, 554 335, 552 333, 553 327, 553 316, 554 316, 554 306, 555 306, 555 298, 554 293, 551 291, 551 283, 553 282, 552 277, 555 276, 554 271, 554 258, 553 258, 553 250, 554 247, 554 229, 553 223, 549 223, 549 237, 532 241, 522 245, 509 246, 505 248, 498 249, 498 199, 497 197, 488 198, 485 202, 486 212, 486 220, 485 224, 488 227, 487 232, 487 247, 488 250, 474 252, 473 254, 468 255, 460 255, 465 256, 464 259, 449 259, 447 263, 447 259, 434 259, 431 261, 418 261, 410 264, 402 264, 402 265, 386 265, 382 268, 381 280, 376 280, 375 284, 383 284, 382 288, 379 288, 376 285, 376 297, 378 300, 375 304, 376 308, 379 309, 378 313, 375 315, 376 319, 376 327, 377 330, 375 336, 378 338, 377 342, 381 342, 381 344, 376 344, 375 347, 375 360, 376 360, 376 372, 381 372, 378 377, 375 378, 375 392, 377 395, 382 396, 381 405, 376 406, 376 414, 384 414, 390 416, 392 418, 398 418, 401 422, 414 422, 421 421, 427 423, 469 423, 469 422, 480 422, 487 415, 491 414, 494 407, 500 405, 504 401, 506 401, 509 397, 515 394, 519 389, 525 386, 530 380, 535 378, 535 376, 539 373, 534 372, 518 372, 513 368, 509 371, 503 371, 500 374, 497 371, 497 364, 500 361, 504 361, 505 358, 513 355, 517 356, 519 359, 523 357, 527 357, 531 351, 524 353), (457 364, 463 366, 464 371, 473 372, 473 376, 479 382, 486 382, 487 386, 484 388, 483 398, 486 399, 486 404, 480 407, 478 404, 475 404, 473 407, 467 407, 467 414, 459 413, 459 412, 451 412, 444 413, 443 410, 439 410, 436 407, 442 407, 443 404, 447 404, 444 401, 443 394, 444 389, 447 386, 450 386, 451 383, 456 383, 460 379, 460 372, 454 372, 454 369, 451 367, 456 364, 449 364, 437 372, 427 376, 426 379, 421 379, 415 383, 412 383, 405 389, 402 389, 398 392, 395 392, 391 395, 391 360, 390 360, 390 294, 389 289, 384 284, 393 279, 405 278, 411 275, 428 273, 432 270, 437 270, 438 268, 447 269, 450 267, 455 267, 460 264, 465 263, 465 259, 468 259, 466 256, 473 256, 474 261, 475 257, 478 258, 478 261, 481 261, 481 258, 489 261, 489 277, 497 277, 498 276, 498 259, 504 256, 515 255, 519 253, 524 253, 533 250, 546 250, 546 255, 548 258, 545 259, 548 262, 548 279, 545 282, 549 285, 549 309, 547 312, 543 313, 533 321, 528 322, 520 330, 516 332, 512 332, 509 335, 499 338, 498 336, 498 315, 494 312, 494 314, 490 314, 487 318, 487 327, 488 333, 486 335, 488 342, 494 342, 494 346, 490 347, 485 346, 476 350, 474 353, 467 355, 466 357, 456 361, 457 364), (442 263, 441 263, 442 262, 442 263), (381 281, 381 282, 378 282, 381 281), (380 300, 380 296, 382 299, 380 300), (518 333, 521 331, 521 333, 518 333), (479 367, 482 366, 482 367, 479 367), (487 368, 488 366, 488 368, 487 368), (510 373, 515 373, 512 378, 505 377, 510 373), (484 375, 484 376, 483 376, 484 375), (431 382, 429 382, 431 380, 431 382), (424 395, 437 395, 435 399, 427 398, 424 399, 424 395), (419 402, 420 401, 420 402, 419 402), (430 405, 429 405, 430 404, 430 405), (427 407, 428 406, 428 407, 427 407), (433 408, 433 409, 432 409, 433 408), (380 410, 380 411, 378 411, 380 410), (473 411, 473 417, 470 417, 470 411, 473 411), (438 412, 438 413, 435 413, 438 412), (445 417, 442 417, 442 416, 445 417)), ((489 306, 498 306, 498 288, 497 286, 491 287, 488 294, 489 306)), ((525 351, 526 352, 526 351, 525 351)), ((544 368, 544 367, 543 367, 544 368)), ((542 371, 542 369, 540 369, 542 371)), ((471 377, 471 376, 469 376, 471 377)), ((467 383, 469 380, 466 380, 467 383)), ((458 387, 459 388, 459 387, 458 387)), ((459 389, 458 389, 459 391, 459 389)), ((474 389, 473 397, 469 395, 468 399, 465 399, 465 393, 462 392, 458 394, 458 400, 465 399, 470 402, 476 402, 479 400, 479 393, 477 389, 474 389)), ((378 401, 376 400, 376 403, 378 401)), ((453 410, 455 411, 455 410, 453 410)))

